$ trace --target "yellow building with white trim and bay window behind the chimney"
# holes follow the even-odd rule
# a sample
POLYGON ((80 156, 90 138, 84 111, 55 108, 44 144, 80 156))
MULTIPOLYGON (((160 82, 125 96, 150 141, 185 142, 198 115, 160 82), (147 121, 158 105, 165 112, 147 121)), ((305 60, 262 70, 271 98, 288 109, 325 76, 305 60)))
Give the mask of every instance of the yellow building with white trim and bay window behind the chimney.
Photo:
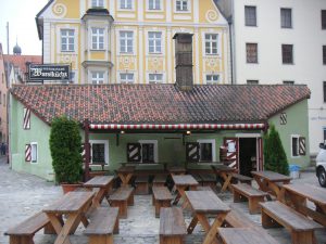
POLYGON ((214 0, 50 0, 37 15, 45 64, 75 84, 175 82, 175 34, 192 38, 195 84, 229 84, 228 24, 214 0))

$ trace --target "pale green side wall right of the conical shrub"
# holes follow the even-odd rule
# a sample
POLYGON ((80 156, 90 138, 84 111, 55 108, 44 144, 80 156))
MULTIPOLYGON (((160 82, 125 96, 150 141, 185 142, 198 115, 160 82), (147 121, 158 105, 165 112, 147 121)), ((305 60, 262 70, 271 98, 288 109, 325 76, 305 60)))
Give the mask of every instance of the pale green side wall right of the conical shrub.
POLYGON ((280 113, 273 116, 268 124, 274 124, 279 132, 289 164, 296 164, 305 168, 310 165, 308 100, 297 103, 284 112, 287 114, 286 125, 280 125, 280 113), (291 134, 305 137, 305 156, 291 156, 291 134))

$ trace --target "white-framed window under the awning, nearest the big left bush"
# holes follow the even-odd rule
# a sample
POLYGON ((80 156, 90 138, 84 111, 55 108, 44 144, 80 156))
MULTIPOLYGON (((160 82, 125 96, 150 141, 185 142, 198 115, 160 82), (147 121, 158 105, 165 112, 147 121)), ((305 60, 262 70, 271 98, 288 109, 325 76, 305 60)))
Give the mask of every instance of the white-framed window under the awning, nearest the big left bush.
POLYGON ((90 140, 90 156, 91 164, 109 165, 109 141, 106 140, 90 140))

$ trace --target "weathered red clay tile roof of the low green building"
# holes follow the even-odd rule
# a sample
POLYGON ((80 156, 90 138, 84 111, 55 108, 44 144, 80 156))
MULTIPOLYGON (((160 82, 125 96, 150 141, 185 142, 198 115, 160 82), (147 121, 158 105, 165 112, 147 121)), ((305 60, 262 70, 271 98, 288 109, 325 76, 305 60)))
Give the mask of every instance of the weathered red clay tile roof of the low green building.
POLYGON ((66 115, 92 124, 258 123, 310 98, 306 86, 14 86, 14 98, 47 123, 66 115))

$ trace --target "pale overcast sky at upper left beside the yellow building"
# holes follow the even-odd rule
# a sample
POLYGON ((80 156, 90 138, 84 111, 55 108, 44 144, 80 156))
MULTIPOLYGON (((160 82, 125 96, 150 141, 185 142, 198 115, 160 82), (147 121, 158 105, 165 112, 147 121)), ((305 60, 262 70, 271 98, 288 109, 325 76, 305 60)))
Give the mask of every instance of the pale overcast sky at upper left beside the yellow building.
POLYGON ((41 55, 41 41, 38 39, 35 16, 48 0, 0 0, 0 42, 7 54, 7 22, 9 22, 10 54, 16 44, 22 54, 41 55))

